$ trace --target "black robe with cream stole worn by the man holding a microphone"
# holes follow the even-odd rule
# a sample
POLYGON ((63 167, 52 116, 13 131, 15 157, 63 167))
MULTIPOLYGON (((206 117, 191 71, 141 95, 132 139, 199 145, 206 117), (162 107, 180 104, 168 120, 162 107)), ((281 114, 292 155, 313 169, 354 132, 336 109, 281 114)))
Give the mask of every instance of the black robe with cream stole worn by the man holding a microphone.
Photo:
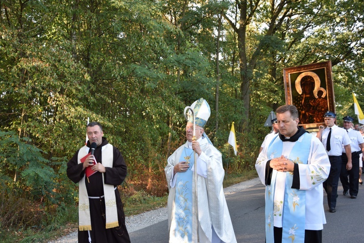
POLYGON ((127 166, 120 151, 102 137, 94 156, 105 167, 105 173, 85 176, 81 159, 90 149, 90 142, 79 149, 67 163, 67 176, 79 183, 78 242, 129 243, 125 215, 117 186, 126 175, 127 166))

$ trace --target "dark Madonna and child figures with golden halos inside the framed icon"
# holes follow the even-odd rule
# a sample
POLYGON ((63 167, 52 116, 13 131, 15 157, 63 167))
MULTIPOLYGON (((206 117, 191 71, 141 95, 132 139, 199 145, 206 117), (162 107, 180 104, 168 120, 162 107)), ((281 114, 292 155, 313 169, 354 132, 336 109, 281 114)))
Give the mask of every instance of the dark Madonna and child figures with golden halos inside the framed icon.
POLYGON ((296 92, 292 103, 298 109, 300 124, 322 123, 328 111, 326 90, 321 86, 318 75, 307 71, 298 75, 295 81, 296 92))

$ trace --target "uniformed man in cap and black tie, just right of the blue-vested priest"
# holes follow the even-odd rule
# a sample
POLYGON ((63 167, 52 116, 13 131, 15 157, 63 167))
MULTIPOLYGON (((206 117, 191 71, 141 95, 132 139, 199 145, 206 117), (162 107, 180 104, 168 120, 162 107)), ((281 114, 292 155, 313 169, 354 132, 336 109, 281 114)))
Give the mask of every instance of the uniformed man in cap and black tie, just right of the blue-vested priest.
POLYGON ((350 139, 345 129, 335 125, 335 113, 331 111, 326 112, 324 114, 324 121, 327 127, 324 128, 324 126, 320 126, 316 137, 321 140, 329 155, 331 163, 330 174, 329 178, 324 181, 323 186, 327 194, 330 212, 336 212, 337 186, 341 171, 343 146, 347 154, 346 169, 351 170, 352 167, 350 139))

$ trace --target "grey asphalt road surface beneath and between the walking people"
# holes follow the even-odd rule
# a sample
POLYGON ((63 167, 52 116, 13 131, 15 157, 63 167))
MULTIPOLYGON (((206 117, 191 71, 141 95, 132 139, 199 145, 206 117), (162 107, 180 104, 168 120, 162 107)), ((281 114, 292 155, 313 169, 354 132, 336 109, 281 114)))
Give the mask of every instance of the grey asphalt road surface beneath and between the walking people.
MULTIPOLYGON (((256 184, 240 192, 226 195, 238 243, 264 243, 264 186, 256 184)), ((358 198, 342 194, 339 182, 336 212, 329 212, 324 192, 324 209, 327 224, 322 231, 324 243, 364 243, 364 185, 359 185, 358 198)), ((167 243, 168 222, 157 224, 130 233, 132 243, 167 243)))

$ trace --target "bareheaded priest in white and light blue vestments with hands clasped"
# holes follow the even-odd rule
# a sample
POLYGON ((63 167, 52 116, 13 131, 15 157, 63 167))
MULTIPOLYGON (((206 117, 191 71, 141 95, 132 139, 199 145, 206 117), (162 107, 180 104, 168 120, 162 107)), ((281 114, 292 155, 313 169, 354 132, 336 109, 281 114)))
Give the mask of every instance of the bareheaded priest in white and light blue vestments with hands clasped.
POLYGON ((320 140, 298 127, 298 110, 276 110, 279 133, 255 163, 265 185, 266 243, 321 243, 323 186, 330 161, 320 140))

